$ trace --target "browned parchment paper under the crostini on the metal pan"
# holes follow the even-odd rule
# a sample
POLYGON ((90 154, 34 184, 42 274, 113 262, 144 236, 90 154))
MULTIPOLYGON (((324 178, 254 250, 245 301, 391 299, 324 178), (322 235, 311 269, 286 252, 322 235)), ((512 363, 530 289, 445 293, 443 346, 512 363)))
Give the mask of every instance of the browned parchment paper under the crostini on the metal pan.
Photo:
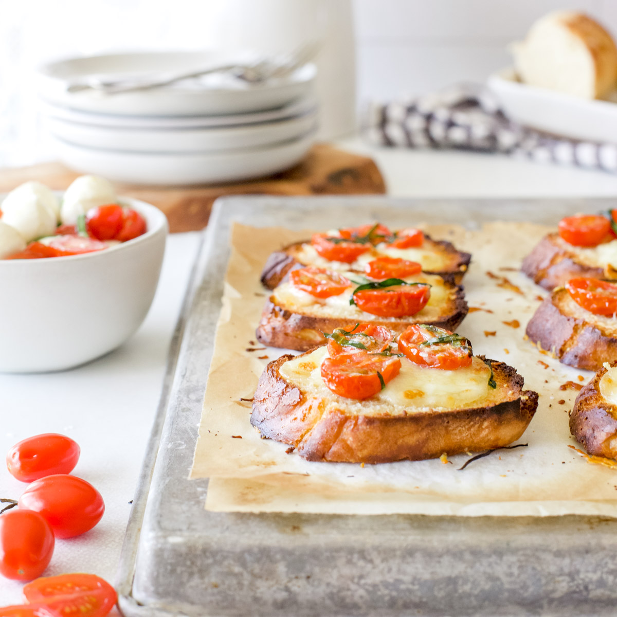
POLYGON ((587 383, 592 373, 561 365, 524 339, 526 323, 545 292, 518 268, 548 228, 489 223, 481 231, 426 230, 473 254, 463 281, 472 308, 457 331, 469 337, 474 354, 515 366, 525 387, 540 394, 536 416, 519 440, 528 447, 494 452, 459 470, 470 456, 365 466, 315 463, 286 453, 286 444, 260 439, 249 422, 251 403, 239 399, 252 398, 267 362, 285 350, 255 344, 267 297, 259 275, 271 251, 310 232, 236 225, 191 471, 191 478, 210 478, 207 509, 617 516, 615 470, 591 465, 568 447, 578 447, 568 429, 577 391, 560 390, 560 385, 587 383), (265 355, 268 359, 259 359, 265 355))

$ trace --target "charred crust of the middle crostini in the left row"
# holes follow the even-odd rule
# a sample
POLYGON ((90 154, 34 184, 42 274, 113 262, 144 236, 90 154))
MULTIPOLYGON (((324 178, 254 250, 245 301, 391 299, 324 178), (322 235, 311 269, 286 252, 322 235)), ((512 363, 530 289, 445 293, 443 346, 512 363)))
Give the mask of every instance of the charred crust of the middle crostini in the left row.
MULTIPOLYGON (((453 312, 449 315, 444 315, 436 321, 423 321, 421 323, 455 330, 469 311, 465 293, 460 286, 456 288, 453 304, 453 312)), ((349 326, 351 321, 354 321, 354 319, 349 317, 313 317, 313 315, 295 313, 283 309, 274 304, 271 299, 268 299, 255 335, 260 343, 270 347, 305 351, 325 341, 322 332, 331 333, 335 328, 345 328, 349 326)), ((413 319, 405 321, 404 318, 400 318, 400 321, 382 321, 377 316, 364 321, 378 326, 386 326, 386 328, 398 333, 404 332, 411 323, 418 323, 413 319)))

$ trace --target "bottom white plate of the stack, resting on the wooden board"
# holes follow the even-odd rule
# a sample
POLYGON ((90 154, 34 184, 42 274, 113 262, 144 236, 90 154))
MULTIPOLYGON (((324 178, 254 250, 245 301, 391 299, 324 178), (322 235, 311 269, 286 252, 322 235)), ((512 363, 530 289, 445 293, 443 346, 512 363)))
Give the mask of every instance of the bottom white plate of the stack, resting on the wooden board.
POLYGON ((224 152, 146 154, 75 146, 54 139, 60 160, 78 172, 136 184, 205 184, 249 180, 293 167, 309 151, 315 131, 275 146, 224 152))

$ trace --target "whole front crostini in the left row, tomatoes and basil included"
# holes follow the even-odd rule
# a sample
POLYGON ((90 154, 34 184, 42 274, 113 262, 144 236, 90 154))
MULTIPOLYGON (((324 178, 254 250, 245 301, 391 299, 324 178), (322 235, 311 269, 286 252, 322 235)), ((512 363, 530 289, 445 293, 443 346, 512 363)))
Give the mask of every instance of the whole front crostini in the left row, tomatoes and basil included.
POLYGON ((523 391, 516 370, 475 357, 465 337, 357 324, 271 362, 251 424, 308 460, 385 463, 502 447, 536 408, 537 393, 523 391))

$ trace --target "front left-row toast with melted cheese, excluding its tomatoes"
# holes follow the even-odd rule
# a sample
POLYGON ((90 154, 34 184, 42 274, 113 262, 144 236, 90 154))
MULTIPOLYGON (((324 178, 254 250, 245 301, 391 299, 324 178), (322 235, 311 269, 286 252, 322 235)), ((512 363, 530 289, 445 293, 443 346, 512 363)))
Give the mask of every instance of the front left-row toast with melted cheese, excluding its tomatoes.
POLYGON ((399 375, 365 400, 339 397, 321 380, 326 346, 270 362, 255 391, 251 424, 312 461, 386 463, 489 450, 516 441, 537 393, 502 362, 482 356, 455 371, 402 358, 399 375))

